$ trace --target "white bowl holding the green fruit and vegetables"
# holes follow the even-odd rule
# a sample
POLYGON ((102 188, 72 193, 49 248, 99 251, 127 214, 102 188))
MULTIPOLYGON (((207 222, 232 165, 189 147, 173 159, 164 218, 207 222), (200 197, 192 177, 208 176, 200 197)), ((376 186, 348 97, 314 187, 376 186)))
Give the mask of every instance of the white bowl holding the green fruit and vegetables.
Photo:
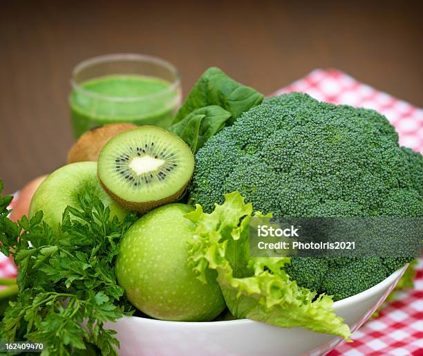
MULTIPOLYGON (((352 332, 384 302, 406 266, 381 283, 333 304, 352 332)), ((231 321, 162 321, 123 317, 106 328, 118 332, 121 356, 324 355, 340 337, 303 328, 278 328, 250 319, 231 321)))

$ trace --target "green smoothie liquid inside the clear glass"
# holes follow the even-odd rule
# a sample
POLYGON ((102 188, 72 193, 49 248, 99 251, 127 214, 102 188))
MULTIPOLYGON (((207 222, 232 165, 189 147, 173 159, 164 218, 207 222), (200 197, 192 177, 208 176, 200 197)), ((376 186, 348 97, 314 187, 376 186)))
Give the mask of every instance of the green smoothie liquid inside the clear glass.
POLYGON ((107 75, 79 84, 69 103, 75 139, 113 122, 168 127, 180 100, 167 80, 142 75, 107 75))

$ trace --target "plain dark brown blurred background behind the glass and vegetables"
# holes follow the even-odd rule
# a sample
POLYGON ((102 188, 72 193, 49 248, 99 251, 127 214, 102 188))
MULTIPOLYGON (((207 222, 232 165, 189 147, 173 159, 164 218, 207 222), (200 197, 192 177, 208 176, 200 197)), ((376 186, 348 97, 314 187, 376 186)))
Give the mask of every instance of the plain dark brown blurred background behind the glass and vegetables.
POLYGON ((1 1, 0 178, 11 193, 64 164, 71 70, 95 55, 168 59, 185 95, 208 66, 263 93, 339 68, 422 106, 422 17, 406 1, 1 1))

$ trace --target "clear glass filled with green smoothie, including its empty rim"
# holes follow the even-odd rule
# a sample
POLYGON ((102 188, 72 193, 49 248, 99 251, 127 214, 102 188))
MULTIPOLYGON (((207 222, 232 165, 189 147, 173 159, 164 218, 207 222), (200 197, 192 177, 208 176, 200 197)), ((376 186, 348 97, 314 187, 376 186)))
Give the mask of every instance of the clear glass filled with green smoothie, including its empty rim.
POLYGON ((73 70, 69 97, 75 139, 93 127, 131 122, 168 127, 181 101, 176 68, 149 55, 87 59, 73 70))

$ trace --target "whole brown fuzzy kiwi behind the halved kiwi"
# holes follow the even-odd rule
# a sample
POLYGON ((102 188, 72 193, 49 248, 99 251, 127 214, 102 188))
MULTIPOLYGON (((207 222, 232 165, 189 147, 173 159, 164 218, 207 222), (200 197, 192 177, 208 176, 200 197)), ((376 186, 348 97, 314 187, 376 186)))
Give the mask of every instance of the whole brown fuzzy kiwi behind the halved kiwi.
POLYGON ((138 126, 128 123, 107 124, 86 131, 68 153, 68 163, 97 161, 98 155, 111 138, 118 133, 136 129, 138 126))

